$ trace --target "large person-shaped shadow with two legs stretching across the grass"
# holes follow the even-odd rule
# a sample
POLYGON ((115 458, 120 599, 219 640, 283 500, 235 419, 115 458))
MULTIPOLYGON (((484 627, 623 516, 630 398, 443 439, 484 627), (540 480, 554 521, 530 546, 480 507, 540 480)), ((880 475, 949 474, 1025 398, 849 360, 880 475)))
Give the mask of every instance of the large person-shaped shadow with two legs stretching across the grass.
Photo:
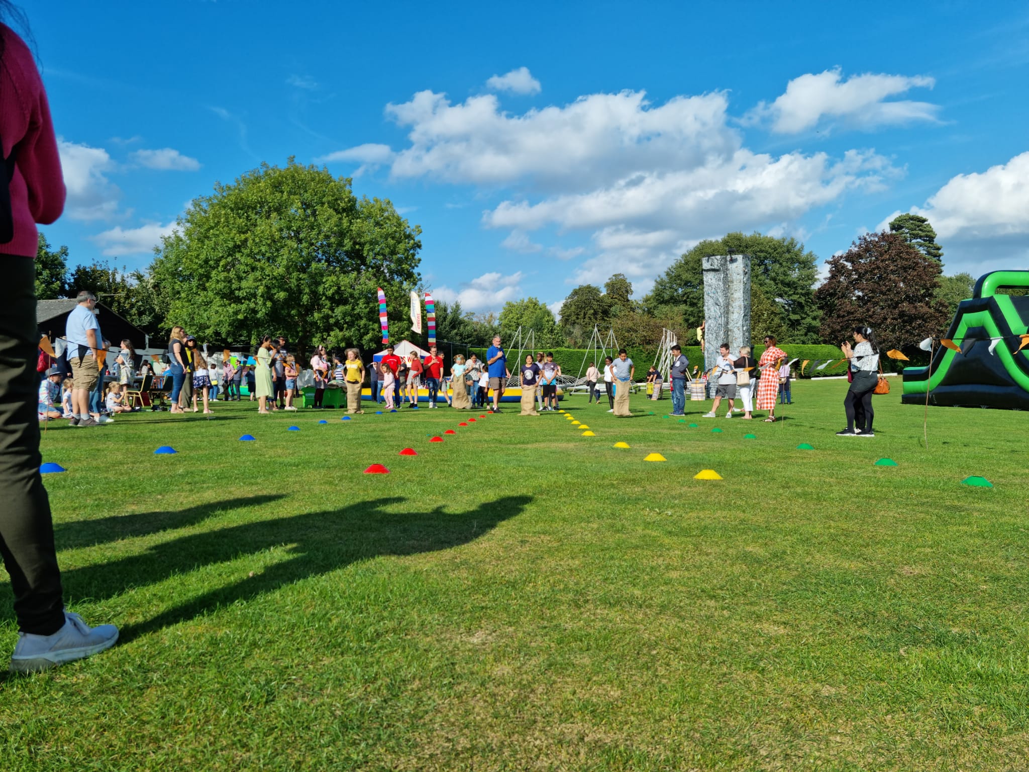
MULTIPOLYGON (((63 575, 66 595, 69 598, 109 598, 129 588, 163 582, 201 566, 288 546, 290 558, 259 573, 193 598, 146 622, 122 628, 120 640, 128 642, 214 608, 249 600, 359 560, 437 552, 466 545, 498 523, 519 515, 532 501, 532 496, 507 496, 456 514, 446 513, 442 507, 428 512, 387 510, 405 500, 380 498, 338 510, 190 534, 157 545, 142 555, 67 571, 63 575)), ((5 616, 9 612, 9 608, 4 609, 5 616)))

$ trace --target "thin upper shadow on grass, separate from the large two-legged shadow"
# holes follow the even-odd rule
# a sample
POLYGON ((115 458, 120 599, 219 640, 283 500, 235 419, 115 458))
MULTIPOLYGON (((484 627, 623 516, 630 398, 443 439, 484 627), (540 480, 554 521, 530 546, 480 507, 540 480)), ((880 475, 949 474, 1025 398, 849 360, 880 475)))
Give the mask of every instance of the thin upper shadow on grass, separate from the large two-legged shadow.
POLYGON ((78 520, 74 523, 60 523, 54 526, 54 540, 59 550, 73 550, 92 547, 121 538, 147 536, 151 533, 185 528, 197 525, 208 518, 227 510, 244 506, 260 506, 285 498, 282 493, 261 496, 242 496, 226 501, 212 501, 190 506, 187 510, 171 512, 141 512, 135 515, 119 515, 96 520, 78 520))

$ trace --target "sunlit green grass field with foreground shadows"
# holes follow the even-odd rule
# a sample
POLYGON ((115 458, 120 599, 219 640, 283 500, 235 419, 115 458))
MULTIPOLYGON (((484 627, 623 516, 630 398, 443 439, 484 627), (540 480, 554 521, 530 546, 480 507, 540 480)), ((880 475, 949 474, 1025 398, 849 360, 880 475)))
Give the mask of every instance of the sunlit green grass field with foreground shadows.
POLYGON ((513 406, 61 422, 68 601, 122 639, 0 676, 2 768, 1025 769, 1029 416, 930 409, 926 450, 893 386, 874 440, 833 435, 843 381, 774 425, 569 400, 594 437, 513 406))

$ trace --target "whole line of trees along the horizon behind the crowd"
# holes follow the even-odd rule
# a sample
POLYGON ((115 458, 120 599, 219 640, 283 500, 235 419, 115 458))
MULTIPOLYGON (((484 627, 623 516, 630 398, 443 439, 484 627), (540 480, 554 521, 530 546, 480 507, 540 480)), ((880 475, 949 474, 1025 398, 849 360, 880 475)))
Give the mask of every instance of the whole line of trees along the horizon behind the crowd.
MULTIPOLYGON (((358 198, 349 178, 296 164, 262 164, 194 199, 162 239, 144 270, 106 262, 68 267, 68 248, 40 235, 40 299, 96 292, 112 311, 161 341, 174 324, 198 339, 255 345, 284 335, 294 349, 380 345, 377 287, 387 295, 390 335, 411 338, 407 299, 423 291, 421 229, 384 199, 358 198)), ((968 274, 944 276, 943 249, 926 218, 904 214, 882 234, 866 234, 826 264, 793 238, 732 233, 682 254, 649 292, 634 299, 623 274, 572 289, 556 315, 536 297, 508 302, 499 314, 473 314, 436 303, 436 336, 470 346, 521 327, 538 348, 581 348, 595 325, 620 345, 652 347, 664 328, 695 344, 704 316, 702 262, 726 253, 751 256, 751 329, 786 344, 838 343, 854 324, 904 348, 947 326, 971 293, 968 274)))

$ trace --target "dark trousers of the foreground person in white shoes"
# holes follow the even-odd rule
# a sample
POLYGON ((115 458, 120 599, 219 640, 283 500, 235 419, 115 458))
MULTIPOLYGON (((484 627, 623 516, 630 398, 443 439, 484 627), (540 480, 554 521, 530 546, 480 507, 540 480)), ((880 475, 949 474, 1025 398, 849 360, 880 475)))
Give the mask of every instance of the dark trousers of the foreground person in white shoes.
POLYGON ((49 635, 65 623, 50 502, 39 477, 35 261, 0 255, 0 554, 22 632, 49 635))

